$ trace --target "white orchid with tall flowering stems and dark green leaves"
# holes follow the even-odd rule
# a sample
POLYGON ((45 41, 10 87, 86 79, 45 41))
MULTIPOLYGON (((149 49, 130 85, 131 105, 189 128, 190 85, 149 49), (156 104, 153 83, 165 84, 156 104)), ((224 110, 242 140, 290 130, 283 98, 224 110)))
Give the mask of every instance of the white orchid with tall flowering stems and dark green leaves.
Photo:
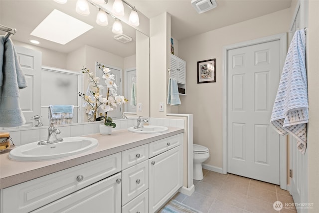
POLYGON ((104 125, 112 128, 116 127, 111 117, 107 116, 109 111, 114 110, 118 105, 126 103, 128 100, 122 96, 117 95, 117 85, 114 82, 114 74, 110 73, 110 69, 97 63, 98 69, 103 72, 102 78, 107 85, 106 97, 102 97, 101 90, 103 85, 99 84, 100 78, 94 76, 93 72, 90 72, 87 68, 83 67, 82 72, 88 74, 90 82, 90 94, 84 94, 79 92, 79 96, 84 99, 90 110, 93 111, 94 121, 101 121, 104 119, 104 125), (98 110, 102 109, 104 115, 97 117, 98 110))

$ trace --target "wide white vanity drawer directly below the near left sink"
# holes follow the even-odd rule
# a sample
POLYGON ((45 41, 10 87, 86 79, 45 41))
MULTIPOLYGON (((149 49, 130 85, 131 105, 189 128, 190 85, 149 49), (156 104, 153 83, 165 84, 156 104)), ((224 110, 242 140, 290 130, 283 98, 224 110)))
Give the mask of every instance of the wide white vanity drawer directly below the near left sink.
POLYGON ((121 152, 3 189, 3 212, 30 212, 121 171, 121 152))

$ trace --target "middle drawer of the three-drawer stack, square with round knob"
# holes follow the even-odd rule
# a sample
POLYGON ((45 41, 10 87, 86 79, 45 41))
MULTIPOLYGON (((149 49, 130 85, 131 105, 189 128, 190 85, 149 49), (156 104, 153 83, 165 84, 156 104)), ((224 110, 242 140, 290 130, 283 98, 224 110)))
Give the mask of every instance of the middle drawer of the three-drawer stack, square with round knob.
POLYGON ((149 161, 122 171, 122 205, 149 188, 149 161))

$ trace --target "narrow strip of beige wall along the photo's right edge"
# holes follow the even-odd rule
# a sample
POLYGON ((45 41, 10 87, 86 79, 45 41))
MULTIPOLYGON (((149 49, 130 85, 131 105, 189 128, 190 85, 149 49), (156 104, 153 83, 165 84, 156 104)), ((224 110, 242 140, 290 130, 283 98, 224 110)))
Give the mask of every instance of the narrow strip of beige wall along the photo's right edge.
POLYGON ((309 0, 307 29, 307 74, 309 97, 308 125, 308 202, 314 203, 310 213, 319 212, 319 1, 309 0))

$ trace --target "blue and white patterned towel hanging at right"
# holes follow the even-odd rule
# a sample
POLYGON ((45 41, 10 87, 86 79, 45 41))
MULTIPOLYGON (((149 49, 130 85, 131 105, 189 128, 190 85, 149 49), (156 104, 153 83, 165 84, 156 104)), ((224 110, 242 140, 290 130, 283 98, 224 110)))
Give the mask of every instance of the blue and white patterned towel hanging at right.
POLYGON ((307 145, 308 88, 306 73, 306 34, 298 30, 290 43, 270 119, 280 134, 297 138, 303 154, 307 145))

